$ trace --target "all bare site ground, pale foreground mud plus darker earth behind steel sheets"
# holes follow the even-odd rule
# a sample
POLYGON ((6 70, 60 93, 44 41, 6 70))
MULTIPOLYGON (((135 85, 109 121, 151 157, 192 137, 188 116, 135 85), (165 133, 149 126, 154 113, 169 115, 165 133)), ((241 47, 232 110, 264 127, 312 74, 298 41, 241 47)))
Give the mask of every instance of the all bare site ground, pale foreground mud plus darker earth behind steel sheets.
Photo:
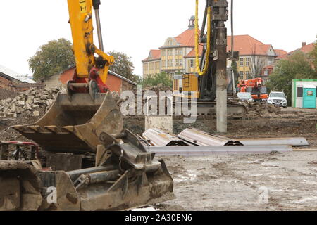
MULTIPOLYGON (((42 113, 41 113, 42 115, 42 113)), ((282 109, 280 113, 248 114, 228 120, 228 137, 305 137, 317 148, 317 110, 282 109)), ((0 120, 1 139, 26 141, 8 127, 35 122, 39 117, 0 120)), ((125 127, 144 131, 144 117, 125 117, 125 127)), ((181 117, 173 122, 174 133, 194 127, 216 130, 213 116, 201 116, 194 124, 181 117)), ((154 205, 157 210, 317 210, 317 151, 266 155, 210 155, 164 157, 174 179, 175 199, 154 205), (268 203, 259 202, 268 190, 268 203)))

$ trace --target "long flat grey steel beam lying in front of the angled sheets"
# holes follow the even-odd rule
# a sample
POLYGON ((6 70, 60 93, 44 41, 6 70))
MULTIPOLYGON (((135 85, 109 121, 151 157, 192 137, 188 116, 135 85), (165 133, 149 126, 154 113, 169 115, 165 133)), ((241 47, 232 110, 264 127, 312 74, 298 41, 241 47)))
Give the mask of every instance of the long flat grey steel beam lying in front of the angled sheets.
POLYGON ((292 152, 292 146, 178 146, 149 147, 156 155, 267 154, 292 152))

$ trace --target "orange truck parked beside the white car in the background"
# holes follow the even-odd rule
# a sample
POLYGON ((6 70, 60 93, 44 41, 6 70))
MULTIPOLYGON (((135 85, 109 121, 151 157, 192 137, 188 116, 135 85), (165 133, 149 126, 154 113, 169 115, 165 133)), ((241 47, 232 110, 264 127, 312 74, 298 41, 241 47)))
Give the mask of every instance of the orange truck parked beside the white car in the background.
POLYGON ((262 78, 241 80, 239 84, 237 84, 237 88, 239 92, 251 93, 254 101, 266 102, 268 100, 268 90, 266 86, 263 85, 262 78))

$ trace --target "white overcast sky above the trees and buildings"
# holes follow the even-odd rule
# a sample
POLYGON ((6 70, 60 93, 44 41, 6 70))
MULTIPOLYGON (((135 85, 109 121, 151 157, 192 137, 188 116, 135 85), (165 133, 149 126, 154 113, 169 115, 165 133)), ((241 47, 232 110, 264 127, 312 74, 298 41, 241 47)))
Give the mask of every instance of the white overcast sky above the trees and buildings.
MULTIPOLYGON (((187 29, 194 5, 195 0, 101 0, 105 50, 131 56, 135 74, 142 75, 141 60, 166 38, 187 29)), ((204 6, 201 0, 201 20, 204 6)), ((0 64, 11 70, 30 75, 27 59, 39 46, 61 37, 72 39, 66 0, 1 1, 1 8, 0 64)), ((316 41, 316 8, 316 0, 235 0, 235 34, 293 51, 303 41, 316 41)), ((98 45, 97 36, 94 42, 98 45)))

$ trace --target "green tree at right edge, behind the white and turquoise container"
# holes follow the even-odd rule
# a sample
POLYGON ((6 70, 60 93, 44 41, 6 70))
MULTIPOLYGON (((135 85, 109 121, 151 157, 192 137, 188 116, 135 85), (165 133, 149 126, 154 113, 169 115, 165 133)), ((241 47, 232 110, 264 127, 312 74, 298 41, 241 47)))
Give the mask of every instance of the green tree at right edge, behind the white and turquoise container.
POLYGON ((284 91, 290 103, 292 79, 316 78, 317 72, 311 65, 311 59, 302 51, 297 51, 287 59, 278 61, 267 85, 271 91, 284 91))

